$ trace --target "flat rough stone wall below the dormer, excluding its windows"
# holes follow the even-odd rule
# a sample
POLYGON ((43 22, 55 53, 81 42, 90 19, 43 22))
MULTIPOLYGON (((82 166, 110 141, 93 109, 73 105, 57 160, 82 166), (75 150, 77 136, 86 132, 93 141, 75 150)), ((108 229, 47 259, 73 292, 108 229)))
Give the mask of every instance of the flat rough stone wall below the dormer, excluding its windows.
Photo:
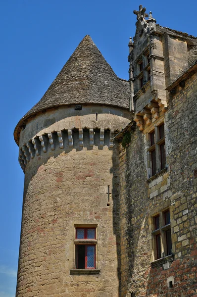
POLYGON ((164 114, 167 170, 147 182, 146 135, 138 127, 126 149, 119 147, 122 297, 196 296, 196 81, 194 74, 169 98, 164 114), (167 208, 173 255, 155 260, 152 217, 167 208))

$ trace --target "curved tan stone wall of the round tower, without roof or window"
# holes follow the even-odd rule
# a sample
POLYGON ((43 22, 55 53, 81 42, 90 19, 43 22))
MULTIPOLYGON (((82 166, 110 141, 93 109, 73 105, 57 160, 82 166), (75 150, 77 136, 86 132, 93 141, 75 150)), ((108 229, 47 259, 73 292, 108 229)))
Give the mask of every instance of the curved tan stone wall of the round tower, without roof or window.
POLYGON ((129 113, 98 105, 77 112, 71 106, 41 113, 21 133, 25 183, 17 297, 119 294, 118 155, 110 133, 130 121, 129 113), (76 270, 76 227, 96 228, 96 269, 76 270))

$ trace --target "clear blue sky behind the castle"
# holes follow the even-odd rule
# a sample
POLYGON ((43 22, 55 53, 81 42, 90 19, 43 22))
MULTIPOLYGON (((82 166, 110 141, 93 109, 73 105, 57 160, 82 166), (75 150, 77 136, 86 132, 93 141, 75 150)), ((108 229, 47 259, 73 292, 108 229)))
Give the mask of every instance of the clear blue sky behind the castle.
MULTIPOLYGON (((115 73, 128 79, 128 42, 141 2, 0 0, 0 297, 14 297, 24 174, 13 130, 89 34, 115 73)), ((157 23, 197 36, 196 0, 144 0, 157 23)))

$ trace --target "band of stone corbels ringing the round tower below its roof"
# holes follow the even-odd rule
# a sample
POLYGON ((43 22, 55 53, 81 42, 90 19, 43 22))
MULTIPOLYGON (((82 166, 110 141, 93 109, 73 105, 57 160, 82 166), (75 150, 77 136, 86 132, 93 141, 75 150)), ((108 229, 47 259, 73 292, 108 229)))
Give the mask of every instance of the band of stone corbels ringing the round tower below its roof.
MULTIPOLYGON (((118 130, 117 130, 118 132, 118 130)), ((19 148, 19 163, 23 171, 31 159, 49 153, 49 151, 72 148, 94 147, 113 148, 115 131, 101 128, 74 128, 52 131, 36 135, 19 148)))

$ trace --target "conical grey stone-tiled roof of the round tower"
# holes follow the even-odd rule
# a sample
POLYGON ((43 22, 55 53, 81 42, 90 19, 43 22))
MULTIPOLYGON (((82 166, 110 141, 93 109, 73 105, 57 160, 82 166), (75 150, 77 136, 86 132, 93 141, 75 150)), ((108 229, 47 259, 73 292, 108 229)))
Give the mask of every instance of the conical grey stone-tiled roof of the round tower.
POLYGON ((63 66, 42 99, 19 121, 14 131, 33 114, 59 105, 96 103, 129 108, 129 83, 117 77, 89 35, 63 66))

